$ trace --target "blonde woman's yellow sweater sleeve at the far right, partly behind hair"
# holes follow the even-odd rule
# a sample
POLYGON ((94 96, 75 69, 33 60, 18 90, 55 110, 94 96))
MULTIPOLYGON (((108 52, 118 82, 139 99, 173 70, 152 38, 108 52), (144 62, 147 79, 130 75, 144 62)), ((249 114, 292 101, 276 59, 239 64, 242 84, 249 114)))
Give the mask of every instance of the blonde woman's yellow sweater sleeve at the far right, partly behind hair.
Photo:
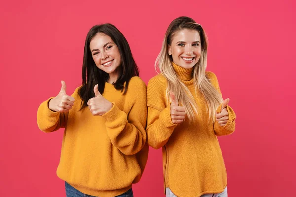
MULTIPOLYGON (((213 72, 207 72, 207 73, 210 78, 210 82, 213 84, 213 86, 219 91, 219 93, 222 96, 216 75, 213 72)), ((222 106, 222 103, 218 107, 218 109, 216 111, 217 113, 221 112, 221 106, 222 106)), ((230 106, 227 106, 227 111, 229 114, 229 120, 227 121, 225 126, 221 127, 220 124, 215 120, 214 131, 217 136, 229 135, 229 134, 233 133, 235 130, 236 115, 230 106)))

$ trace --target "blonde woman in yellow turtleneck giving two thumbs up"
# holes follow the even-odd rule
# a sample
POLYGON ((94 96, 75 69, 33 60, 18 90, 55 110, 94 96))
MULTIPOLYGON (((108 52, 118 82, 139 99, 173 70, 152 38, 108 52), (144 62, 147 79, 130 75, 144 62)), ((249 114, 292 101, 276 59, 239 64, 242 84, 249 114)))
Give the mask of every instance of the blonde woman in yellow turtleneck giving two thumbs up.
POLYGON ((216 136, 235 128, 216 75, 206 71, 207 37, 189 17, 169 25, 147 87, 147 139, 162 147, 166 197, 227 197, 227 176, 216 136))

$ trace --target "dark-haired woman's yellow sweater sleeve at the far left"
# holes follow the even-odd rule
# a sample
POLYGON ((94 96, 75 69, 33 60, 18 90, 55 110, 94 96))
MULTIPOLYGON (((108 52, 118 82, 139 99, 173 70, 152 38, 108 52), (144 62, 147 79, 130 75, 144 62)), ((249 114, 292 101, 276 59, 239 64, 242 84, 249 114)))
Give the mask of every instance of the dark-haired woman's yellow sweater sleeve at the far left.
POLYGON ((52 98, 54 97, 42 102, 38 108, 37 124, 39 129, 43 132, 57 131, 61 127, 65 128, 67 124, 68 112, 54 112, 48 108, 48 103, 52 98))

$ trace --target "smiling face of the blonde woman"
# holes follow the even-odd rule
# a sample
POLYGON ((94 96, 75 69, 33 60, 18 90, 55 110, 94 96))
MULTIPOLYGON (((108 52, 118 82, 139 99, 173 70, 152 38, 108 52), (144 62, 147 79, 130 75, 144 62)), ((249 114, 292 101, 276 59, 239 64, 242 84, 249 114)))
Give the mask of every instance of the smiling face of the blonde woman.
POLYGON ((183 29, 175 33, 168 53, 173 62, 183 68, 192 68, 199 60, 201 42, 196 30, 183 29))

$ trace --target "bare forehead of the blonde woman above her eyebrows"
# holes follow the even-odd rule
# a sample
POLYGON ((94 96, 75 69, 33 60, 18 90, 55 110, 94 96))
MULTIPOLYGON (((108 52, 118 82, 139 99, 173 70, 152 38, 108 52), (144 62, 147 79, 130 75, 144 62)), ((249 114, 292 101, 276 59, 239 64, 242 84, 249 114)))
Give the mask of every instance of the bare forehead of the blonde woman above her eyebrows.
POLYGON ((200 41, 200 35, 196 30, 183 29, 174 34, 173 43, 176 42, 196 42, 200 41))

